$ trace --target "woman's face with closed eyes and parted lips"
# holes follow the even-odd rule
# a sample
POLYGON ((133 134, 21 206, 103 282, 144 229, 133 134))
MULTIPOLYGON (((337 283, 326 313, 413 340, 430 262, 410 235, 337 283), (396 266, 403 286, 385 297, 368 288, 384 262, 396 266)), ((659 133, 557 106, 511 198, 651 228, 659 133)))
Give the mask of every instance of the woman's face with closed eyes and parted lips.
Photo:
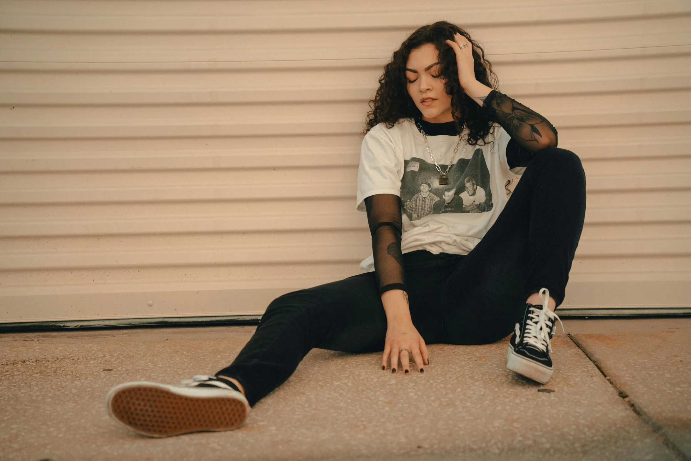
POLYGON ((432 123, 453 121, 451 96, 446 94, 444 80, 439 75, 437 48, 424 44, 410 52, 406 64, 408 94, 422 112, 422 120, 432 123))

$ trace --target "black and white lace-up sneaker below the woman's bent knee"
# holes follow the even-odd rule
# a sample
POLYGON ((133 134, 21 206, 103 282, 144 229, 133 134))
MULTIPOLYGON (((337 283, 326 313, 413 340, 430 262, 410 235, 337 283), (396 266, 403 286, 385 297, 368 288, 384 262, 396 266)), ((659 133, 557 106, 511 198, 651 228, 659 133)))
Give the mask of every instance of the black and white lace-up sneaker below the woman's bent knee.
MULTIPOLYGON (((551 339, 559 316, 547 308, 549 290, 540 290, 542 305, 526 304, 509 341, 507 368, 524 377, 545 384, 552 377, 554 366, 549 358, 551 339), (545 297, 542 297, 542 295, 545 297)), ((564 326, 562 325, 562 330, 564 326)))

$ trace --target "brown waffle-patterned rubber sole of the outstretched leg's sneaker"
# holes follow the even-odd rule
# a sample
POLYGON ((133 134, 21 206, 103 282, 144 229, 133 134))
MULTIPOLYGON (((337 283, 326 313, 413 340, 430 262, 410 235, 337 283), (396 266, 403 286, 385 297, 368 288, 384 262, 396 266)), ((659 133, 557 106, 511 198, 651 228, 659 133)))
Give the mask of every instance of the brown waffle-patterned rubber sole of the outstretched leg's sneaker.
POLYGON ((127 428, 149 437, 197 431, 230 431, 245 422, 245 403, 228 397, 187 397, 164 388, 133 386, 111 397, 111 413, 127 428))

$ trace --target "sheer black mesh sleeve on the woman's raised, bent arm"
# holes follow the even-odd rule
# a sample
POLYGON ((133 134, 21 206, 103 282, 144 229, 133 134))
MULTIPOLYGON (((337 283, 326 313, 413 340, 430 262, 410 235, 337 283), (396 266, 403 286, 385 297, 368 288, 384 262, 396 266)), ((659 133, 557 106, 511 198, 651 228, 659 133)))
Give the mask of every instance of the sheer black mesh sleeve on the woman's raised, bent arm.
POLYGON ((557 146, 557 131, 549 120, 507 95, 490 91, 482 109, 509 133, 521 150, 534 154, 557 146))

